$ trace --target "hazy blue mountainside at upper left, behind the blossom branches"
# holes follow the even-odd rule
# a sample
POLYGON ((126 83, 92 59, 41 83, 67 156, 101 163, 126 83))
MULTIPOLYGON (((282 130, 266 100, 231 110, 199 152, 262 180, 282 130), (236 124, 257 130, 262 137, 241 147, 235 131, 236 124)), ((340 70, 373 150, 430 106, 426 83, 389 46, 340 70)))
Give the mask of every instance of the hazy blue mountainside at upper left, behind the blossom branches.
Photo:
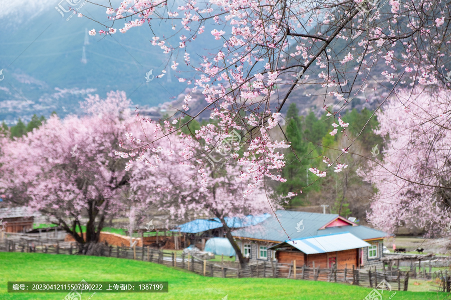
MULTIPOLYGON (((154 36, 152 29, 161 37, 185 31, 179 23, 175 30, 164 23, 152 23, 151 28, 144 24, 126 34, 118 30, 112 35, 91 36, 88 30, 103 29, 97 21, 116 29, 123 26, 122 20, 115 24, 108 20, 104 7, 81 0, 17 0, 0 10, 0 69, 4 75, 0 81, 0 120, 13 124, 18 117, 47 117, 54 110, 60 116, 79 113, 79 101, 89 93, 104 97, 110 90, 124 90, 137 106, 157 106, 184 90, 186 83, 174 75, 192 76, 192 68, 180 63, 174 71, 170 65, 175 59, 149 41, 154 36), (62 10, 69 10, 68 3, 87 17, 62 10), (154 78, 146 82, 150 70, 154 78), (157 78, 163 70, 164 76, 157 78)), ((202 35, 197 38, 199 56, 191 61, 220 45, 204 40, 202 35)), ((178 34, 170 41, 178 45, 178 34)), ((178 56, 183 56, 183 50, 178 56)))

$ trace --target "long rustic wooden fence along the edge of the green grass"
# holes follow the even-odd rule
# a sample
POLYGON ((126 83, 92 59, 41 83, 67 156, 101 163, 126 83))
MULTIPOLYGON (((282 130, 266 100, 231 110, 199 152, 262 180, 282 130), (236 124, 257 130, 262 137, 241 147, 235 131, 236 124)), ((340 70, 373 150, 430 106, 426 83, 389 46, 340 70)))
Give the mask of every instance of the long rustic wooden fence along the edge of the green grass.
MULTIPOLYGON (((62 243, 61 243, 62 244, 62 243)), ((41 252, 50 254, 77 254, 77 243, 70 243, 62 247, 60 242, 55 244, 39 244, 30 240, 4 239, 0 241, 0 251, 9 252, 41 252)), ((172 267, 179 267, 194 273, 223 278, 292 278, 304 280, 320 280, 330 282, 346 282, 350 284, 376 287, 380 281, 385 280, 393 289, 407 290, 409 271, 381 272, 377 270, 356 269, 347 266, 344 269, 321 268, 321 265, 312 266, 297 265, 293 263, 278 263, 276 261, 264 261, 249 264, 246 267, 230 267, 219 261, 199 259, 189 253, 177 254, 176 252, 164 252, 153 249, 150 246, 130 248, 128 246, 108 246, 105 244, 97 247, 96 255, 135 260, 150 261, 172 267)))

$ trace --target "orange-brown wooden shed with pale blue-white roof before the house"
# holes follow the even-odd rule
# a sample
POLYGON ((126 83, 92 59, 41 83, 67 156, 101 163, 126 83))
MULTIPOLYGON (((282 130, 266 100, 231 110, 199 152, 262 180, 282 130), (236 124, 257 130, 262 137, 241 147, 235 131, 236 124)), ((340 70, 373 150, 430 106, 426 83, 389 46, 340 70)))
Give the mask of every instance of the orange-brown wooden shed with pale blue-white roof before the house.
POLYGON ((360 248, 368 245, 366 241, 344 232, 288 240, 270 249, 276 249, 276 258, 281 263, 296 260, 297 265, 344 268, 346 265, 358 267, 360 248))

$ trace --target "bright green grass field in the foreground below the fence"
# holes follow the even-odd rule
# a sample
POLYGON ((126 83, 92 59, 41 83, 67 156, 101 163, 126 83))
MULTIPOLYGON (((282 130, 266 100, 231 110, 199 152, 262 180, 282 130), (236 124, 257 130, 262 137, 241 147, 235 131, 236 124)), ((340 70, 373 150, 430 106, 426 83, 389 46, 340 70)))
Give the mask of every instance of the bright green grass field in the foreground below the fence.
MULTIPOLYGON (((113 257, 0 252, 0 299, 62 300, 67 293, 8 293, 8 281, 169 281, 168 293, 97 293, 100 299, 361 300, 371 288, 280 278, 211 278, 160 264, 113 257)), ((384 294, 383 299, 388 299, 384 294)), ((84 295, 82 300, 88 299, 84 295)), ((90 300, 91 300, 90 299, 90 300)), ((444 293, 397 291, 393 300, 449 299, 444 293)))

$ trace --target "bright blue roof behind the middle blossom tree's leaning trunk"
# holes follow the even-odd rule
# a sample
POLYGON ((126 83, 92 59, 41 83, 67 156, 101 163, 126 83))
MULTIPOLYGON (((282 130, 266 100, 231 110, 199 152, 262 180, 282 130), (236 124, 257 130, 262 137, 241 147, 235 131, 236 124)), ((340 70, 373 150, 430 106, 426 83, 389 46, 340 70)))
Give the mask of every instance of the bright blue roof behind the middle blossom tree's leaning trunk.
MULTIPOLYGON (((262 215, 247 215, 245 217, 225 217, 224 220, 230 228, 241 228, 246 226, 256 225, 267 218, 269 218, 271 214, 265 213, 262 215)), ((220 220, 215 217, 212 219, 195 219, 190 222, 181 224, 177 226, 177 229, 172 229, 171 231, 180 231, 184 233, 198 233, 214 228, 222 227, 222 223, 220 220), (180 229, 178 229, 180 228, 180 229)))

